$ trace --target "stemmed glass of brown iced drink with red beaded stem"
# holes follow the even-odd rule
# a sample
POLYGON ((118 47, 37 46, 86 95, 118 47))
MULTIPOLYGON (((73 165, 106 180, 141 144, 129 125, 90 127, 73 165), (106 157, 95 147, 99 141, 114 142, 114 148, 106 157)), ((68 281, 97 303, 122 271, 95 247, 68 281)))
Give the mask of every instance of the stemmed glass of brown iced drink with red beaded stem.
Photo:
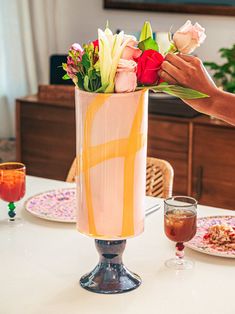
POLYGON ((164 229, 166 236, 176 242, 175 258, 165 262, 176 270, 191 269, 193 262, 184 258, 184 242, 197 231, 197 201, 188 196, 174 196, 164 201, 164 229))

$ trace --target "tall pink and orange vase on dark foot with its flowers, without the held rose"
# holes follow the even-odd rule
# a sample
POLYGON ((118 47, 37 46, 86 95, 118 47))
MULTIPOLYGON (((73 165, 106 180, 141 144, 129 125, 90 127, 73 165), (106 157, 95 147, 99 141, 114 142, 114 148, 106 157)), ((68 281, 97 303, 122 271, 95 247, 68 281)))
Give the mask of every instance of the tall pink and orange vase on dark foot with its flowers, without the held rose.
MULTIPOLYGON (((173 38, 170 50, 177 47, 173 38)), ((97 40, 73 44, 63 64, 64 79, 76 85, 77 228, 96 239, 100 254, 80 280, 93 292, 121 293, 141 283, 121 257, 126 239, 144 229, 148 90, 206 97, 162 82, 158 50, 148 22, 139 40, 107 25, 97 40)))

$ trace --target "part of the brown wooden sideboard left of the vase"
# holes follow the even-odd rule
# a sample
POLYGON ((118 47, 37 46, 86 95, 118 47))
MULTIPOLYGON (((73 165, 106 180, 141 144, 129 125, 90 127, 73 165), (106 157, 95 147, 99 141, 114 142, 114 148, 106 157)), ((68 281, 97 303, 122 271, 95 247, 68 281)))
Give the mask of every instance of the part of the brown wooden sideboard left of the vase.
POLYGON ((16 101, 16 156, 33 176, 64 180, 75 157, 74 87, 16 101))

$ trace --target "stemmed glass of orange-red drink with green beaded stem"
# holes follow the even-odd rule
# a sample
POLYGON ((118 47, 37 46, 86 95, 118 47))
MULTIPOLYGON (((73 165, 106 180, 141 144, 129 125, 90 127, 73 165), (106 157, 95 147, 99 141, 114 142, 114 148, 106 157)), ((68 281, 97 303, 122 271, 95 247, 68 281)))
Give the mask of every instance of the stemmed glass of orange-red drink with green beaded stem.
POLYGON ((10 222, 16 220, 15 202, 25 195, 25 172, 25 165, 20 162, 0 164, 0 199, 8 202, 10 222))

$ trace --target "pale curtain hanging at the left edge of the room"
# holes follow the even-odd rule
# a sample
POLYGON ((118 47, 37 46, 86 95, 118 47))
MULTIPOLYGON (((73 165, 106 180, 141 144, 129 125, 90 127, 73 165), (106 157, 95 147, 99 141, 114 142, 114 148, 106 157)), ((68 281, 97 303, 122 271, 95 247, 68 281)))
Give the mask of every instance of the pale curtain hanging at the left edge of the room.
POLYGON ((0 138, 15 135, 15 98, 48 83, 56 0, 0 0, 0 138))

